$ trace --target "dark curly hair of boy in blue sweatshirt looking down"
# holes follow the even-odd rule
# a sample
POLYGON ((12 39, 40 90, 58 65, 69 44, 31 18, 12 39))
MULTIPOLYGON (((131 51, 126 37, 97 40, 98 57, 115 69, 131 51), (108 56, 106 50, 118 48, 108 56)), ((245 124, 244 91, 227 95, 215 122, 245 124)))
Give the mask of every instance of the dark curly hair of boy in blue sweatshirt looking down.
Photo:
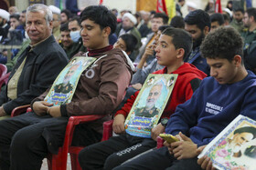
POLYGON ((243 64, 243 40, 240 33, 231 26, 221 26, 209 33, 200 46, 205 58, 223 58, 231 62, 240 55, 243 64))

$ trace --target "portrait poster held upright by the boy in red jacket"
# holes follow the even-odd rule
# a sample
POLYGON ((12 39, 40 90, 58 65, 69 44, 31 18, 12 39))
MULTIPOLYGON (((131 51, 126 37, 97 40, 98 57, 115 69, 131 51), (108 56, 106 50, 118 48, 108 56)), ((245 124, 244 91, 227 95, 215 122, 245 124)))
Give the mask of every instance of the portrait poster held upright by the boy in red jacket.
POLYGON ((151 138, 176 83, 176 74, 147 76, 127 116, 124 127, 129 135, 151 138))

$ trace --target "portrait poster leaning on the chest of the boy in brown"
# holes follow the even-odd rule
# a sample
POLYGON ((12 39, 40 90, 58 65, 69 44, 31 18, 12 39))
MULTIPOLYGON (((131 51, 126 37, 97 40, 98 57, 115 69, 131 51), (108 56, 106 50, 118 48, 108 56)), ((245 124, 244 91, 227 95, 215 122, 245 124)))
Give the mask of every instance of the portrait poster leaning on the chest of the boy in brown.
POLYGON ((81 73, 95 60, 94 57, 74 57, 55 79, 45 101, 53 105, 68 104, 74 95, 81 73))

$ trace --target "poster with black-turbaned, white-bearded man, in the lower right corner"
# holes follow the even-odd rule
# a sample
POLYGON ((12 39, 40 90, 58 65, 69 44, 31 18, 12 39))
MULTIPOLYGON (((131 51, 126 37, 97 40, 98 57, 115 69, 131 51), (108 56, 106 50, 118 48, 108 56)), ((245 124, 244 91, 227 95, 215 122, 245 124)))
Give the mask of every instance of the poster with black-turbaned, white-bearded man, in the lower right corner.
POLYGON ((198 155, 218 169, 256 169, 256 122, 239 115, 198 155))

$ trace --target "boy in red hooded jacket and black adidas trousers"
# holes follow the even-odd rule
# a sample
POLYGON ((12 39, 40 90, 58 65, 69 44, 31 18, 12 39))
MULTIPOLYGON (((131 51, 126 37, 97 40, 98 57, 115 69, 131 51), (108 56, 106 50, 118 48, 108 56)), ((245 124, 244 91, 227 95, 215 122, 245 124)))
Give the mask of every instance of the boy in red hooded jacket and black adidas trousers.
POLYGON ((112 169, 135 155, 155 147, 156 137, 165 132, 167 117, 175 112, 176 105, 183 104, 193 95, 200 81, 207 76, 194 65, 184 63, 183 58, 190 53, 191 48, 192 38, 186 31, 176 28, 165 29, 155 48, 157 63, 165 65, 165 68, 154 74, 178 74, 178 77, 162 119, 152 129, 152 139, 124 134, 124 121, 139 93, 136 92, 115 114, 113 131, 119 136, 87 146, 80 152, 82 169, 112 169))

